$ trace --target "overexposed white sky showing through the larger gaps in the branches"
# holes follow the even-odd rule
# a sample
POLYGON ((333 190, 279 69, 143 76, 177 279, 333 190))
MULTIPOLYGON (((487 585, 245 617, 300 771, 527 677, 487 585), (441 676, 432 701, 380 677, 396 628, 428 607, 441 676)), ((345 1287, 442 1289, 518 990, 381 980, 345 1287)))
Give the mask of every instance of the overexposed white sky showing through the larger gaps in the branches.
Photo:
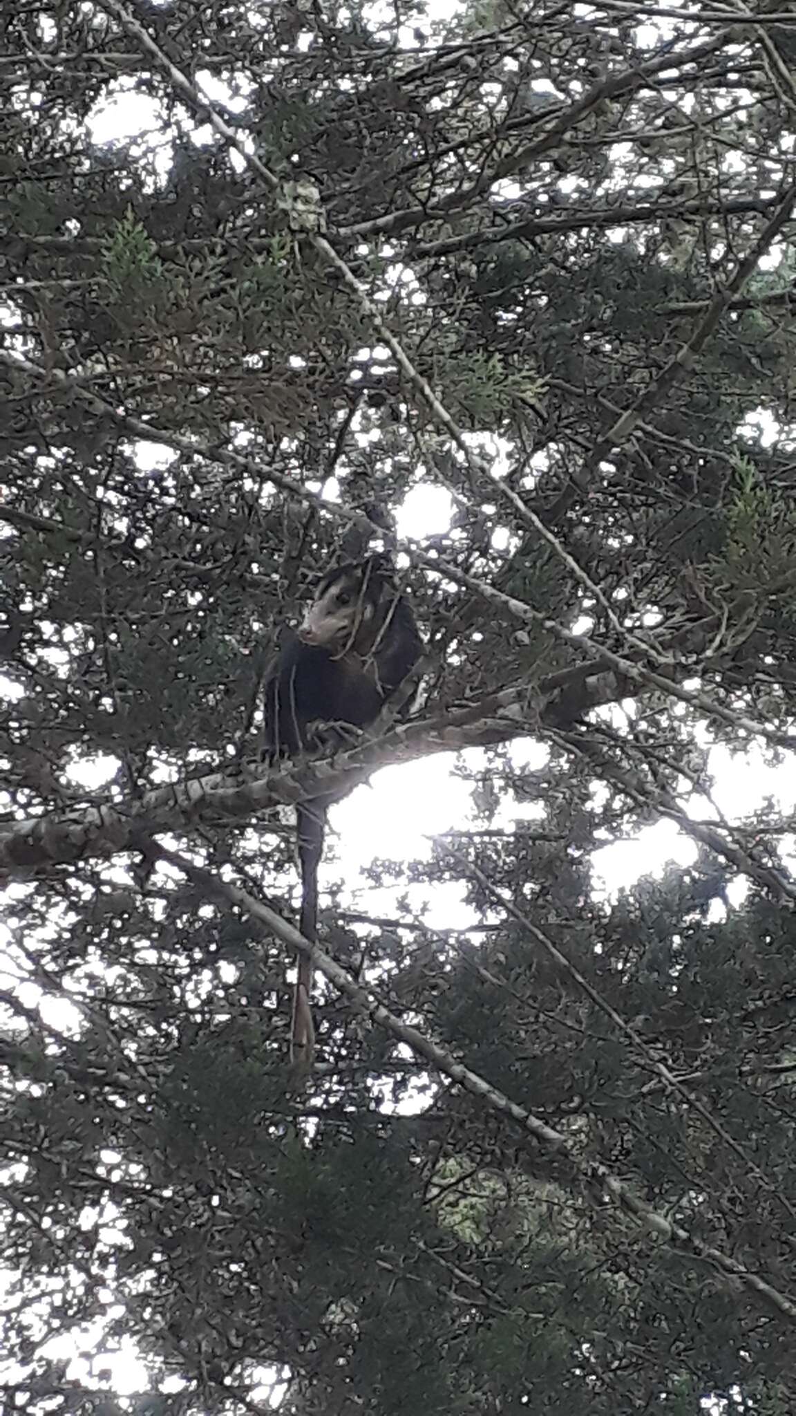
MULTIPOLYGON (((452 16, 457 8, 456 0, 435 0, 435 17, 452 16)), ((584 14, 588 8, 584 6, 584 14)), ((385 14, 391 11, 384 11, 385 14)), ((40 23, 47 25, 42 16, 40 23)), ((639 38, 650 45, 660 40, 660 30, 644 25, 637 31, 639 38)), ((408 27, 401 37, 406 47, 412 45, 412 30, 408 27)), ((212 98, 222 98, 229 108, 241 108, 242 101, 231 99, 218 79, 205 78, 205 89, 212 98)), ((99 102, 88 119, 88 127, 95 142, 112 143, 127 139, 133 135, 152 132, 160 123, 157 106, 146 95, 136 92, 132 81, 123 81, 109 86, 108 96, 99 102)), ((207 129, 197 133, 197 140, 208 139, 207 129)), ((167 171, 170 164, 169 144, 163 147, 161 171, 167 171)), ((0 312, 1 317, 1 312, 0 312)), ((755 426, 755 416, 746 419, 749 428, 755 426)), ((776 438, 776 429, 765 426, 766 440, 776 438)), ((147 453, 142 445, 142 462, 147 460, 147 453)), ((159 449, 159 455, 163 450, 159 449)), ((426 484, 418 486, 406 498, 399 514, 398 530, 401 535, 423 537, 445 530, 450 520, 450 500, 443 490, 426 484)), ((0 695, 6 685, 0 680, 0 695)), ((517 758, 531 769, 544 763, 544 749, 538 743, 518 743, 517 758)), ((476 759, 476 755, 472 755, 476 759)), ((394 910, 395 889, 382 886, 375 889, 363 877, 363 869, 374 858, 412 860, 423 858, 431 851, 432 840, 436 834, 463 828, 472 818, 470 789, 466 782, 457 779, 453 772, 452 756, 435 756, 428 760, 409 763, 401 767, 388 767, 374 776, 370 786, 360 787, 344 803, 341 803, 331 817, 333 831, 339 835, 331 843, 331 851, 339 860, 330 862, 327 869, 337 878, 344 874, 351 886, 351 908, 363 909, 378 915, 390 915, 394 910)), ((112 763, 86 763, 81 772, 81 779, 88 784, 106 780, 113 770, 112 763)), ((739 820, 759 807, 766 797, 779 803, 782 810, 790 811, 796 806, 796 758, 788 755, 786 760, 769 767, 762 759, 762 753, 755 750, 745 758, 734 758, 725 748, 714 748, 711 752, 711 770, 715 775, 714 801, 729 820, 739 820)), ((712 809, 703 803, 694 803, 691 810, 701 817, 712 814, 712 809)), ((533 807, 506 806, 499 811, 491 823, 494 827, 511 830, 513 823, 523 817, 533 817, 533 807)), ((683 835, 671 823, 660 821, 639 833, 635 840, 612 844, 599 851, 593 858, 595 886, 599 893, 615 895, 620 888, 633 884, 642 874, 657 874, 669 861, 687 865, 695 855, 691 841, 683 835)), ((329 877, 327 877, 329 878, 329 877)), ((405 885, 401 884, 401 891, 405 885)), ((745 891, 742 881, 738 881, 731 892, 732 902, 738 902, 745 891)), ((456 885, 449 888, 433 886, 433 891, 422 886, 414 888, 414 901, 418 915, 432 927, 463 927, 470 923, 470 912, 462 903, 456 885)), ((715 906, 721 913, 721 906, 715 906)), ((3 933, 0 932, 0 946, 3 933)), ((8 970, 18 978, 16 964, 0 949, 0 986, 7 981, 8 970), (3 974, 6 973, 6 977, 3 974)), ((27 986, 25 1001, 33 1003, 37 990, 27 986), (31 993, 33 990, 33 993, 31 993)), ((48 1015, 52 1017, 52 1001, 47 1004, 48 1015)), ((64 1005, 61 1012, 55 1010, 52 1021, 58 1025, 69 1027, 74 1021, 71 1010, 64 1005)), ((110 1157, 109 1157, 110 1160, 110 1157)), ((86 1223, 93 1222, 93 1215, 86 1212, 86 1223)), ((108 1223, 113 1216, 108 1216, 108 1223)), ((0 1283, 1 1289, 1 1283, 0 1283)), ((110 1294, 109 1294, 110 1297, 110 1294)), ((110 1313, 110 1317, 113 1313, 110 1313)), ((62 1334, 52 1338, 45 1354, 51 1358, 62 1358, 69 1362, 69 1378, 82 1378, 98 1385, 108 1382, 120 1395, 146 1388, 147 1374, 143 1362, 137 1357, 130 1342, 122 1342, 113 1351, 105 1351, 93 1364, 86 1364, 84 1358, 76 1358, 76 1351, 91 1351, 96 1334, 102 1331, 108 1318, 81 1332, 62 1334), (99 1379, 98 1372, 108 1374, 99 1379)), ((14 1372, 10 1364, 0 1359, 0 1376, 13 1381, 14 1372), (4 1371, 6 1366, 6 1371, 4 1371)), ((255 1393, 255 1399, 278 1405, 280 1388, 271 1385, 272 1374, 263 1372, 263 1388, 255 1393)), ((177 1389, 178 1383, 166 1383, 166 1389, 177 1389)))

